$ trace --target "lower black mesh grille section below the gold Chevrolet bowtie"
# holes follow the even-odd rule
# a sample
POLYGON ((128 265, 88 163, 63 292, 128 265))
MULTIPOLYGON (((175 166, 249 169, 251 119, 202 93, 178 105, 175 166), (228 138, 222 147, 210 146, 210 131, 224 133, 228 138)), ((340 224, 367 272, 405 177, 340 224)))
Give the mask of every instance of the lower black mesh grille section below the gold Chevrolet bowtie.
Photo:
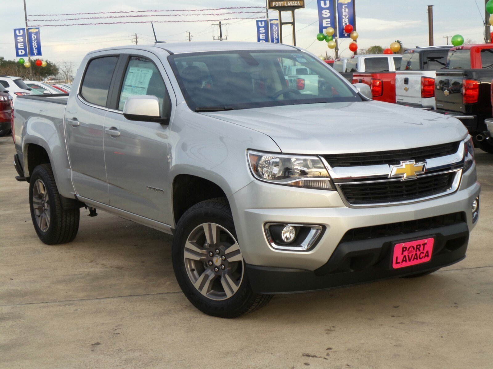
POLYGON ((350 205, 388 204, 423 199, 452 188, 457 172, 418 177, 414 180, 383 180, 340 184, 350 205))

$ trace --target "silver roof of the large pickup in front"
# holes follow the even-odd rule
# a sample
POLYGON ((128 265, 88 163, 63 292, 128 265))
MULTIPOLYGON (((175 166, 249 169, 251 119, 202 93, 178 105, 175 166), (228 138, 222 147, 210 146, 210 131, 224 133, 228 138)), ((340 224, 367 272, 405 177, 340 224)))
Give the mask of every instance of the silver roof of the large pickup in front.
POLYGON ((168 51, 170 54, 196 53, 207 51, 234 51, 234 50, 301 50, 295 46, 274 44, 267 42, 157 42, 150 45, 118 46, 94 50, 89 54, 116 49, 137 49, 152 51, 156 48, 168 51))

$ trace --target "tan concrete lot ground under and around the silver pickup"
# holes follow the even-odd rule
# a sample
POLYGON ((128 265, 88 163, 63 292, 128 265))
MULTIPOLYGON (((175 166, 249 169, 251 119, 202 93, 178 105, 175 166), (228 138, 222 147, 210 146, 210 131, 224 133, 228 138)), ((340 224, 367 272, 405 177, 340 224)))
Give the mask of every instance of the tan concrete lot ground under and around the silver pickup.
POLYGON ((0 368, 492 368, 493 155, 476 153, 481 215, 462 262, 225 320, 180 292, 171 236, 82 209, 74 242, 41 243, 0 138, 0 368))

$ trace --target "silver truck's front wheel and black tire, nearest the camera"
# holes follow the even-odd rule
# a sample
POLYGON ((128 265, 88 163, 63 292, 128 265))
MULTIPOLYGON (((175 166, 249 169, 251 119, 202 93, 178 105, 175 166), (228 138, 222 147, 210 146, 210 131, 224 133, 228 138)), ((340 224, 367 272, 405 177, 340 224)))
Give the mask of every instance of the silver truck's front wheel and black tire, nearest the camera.
POLYGON ((172 259, 186 298, 208 315, 236 318, 263 307, 272 298, 251 289, 225 198, 200 202, 181 216, 172 259))

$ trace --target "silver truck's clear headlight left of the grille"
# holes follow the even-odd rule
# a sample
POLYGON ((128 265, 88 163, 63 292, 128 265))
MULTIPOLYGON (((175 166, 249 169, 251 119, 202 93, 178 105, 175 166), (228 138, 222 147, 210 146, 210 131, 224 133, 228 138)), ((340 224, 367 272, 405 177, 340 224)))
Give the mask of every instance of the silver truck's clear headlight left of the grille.
POLYGON ((288 186, 334 190, 329 173, 317 156, 248 151, 253 175, 261 181, 288 186))

